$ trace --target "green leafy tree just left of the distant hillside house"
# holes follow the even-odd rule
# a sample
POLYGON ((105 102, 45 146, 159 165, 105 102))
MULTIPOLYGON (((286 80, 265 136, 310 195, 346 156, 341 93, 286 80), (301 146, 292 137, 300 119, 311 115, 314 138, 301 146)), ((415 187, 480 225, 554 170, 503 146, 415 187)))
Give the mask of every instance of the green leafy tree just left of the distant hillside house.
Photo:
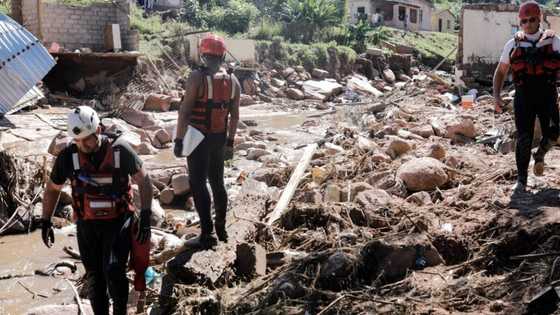
POLYGON ((309 43, 319 30, 336 25, 340 16, 333 0, 288 0, 282 19, 287 38, 309 43))

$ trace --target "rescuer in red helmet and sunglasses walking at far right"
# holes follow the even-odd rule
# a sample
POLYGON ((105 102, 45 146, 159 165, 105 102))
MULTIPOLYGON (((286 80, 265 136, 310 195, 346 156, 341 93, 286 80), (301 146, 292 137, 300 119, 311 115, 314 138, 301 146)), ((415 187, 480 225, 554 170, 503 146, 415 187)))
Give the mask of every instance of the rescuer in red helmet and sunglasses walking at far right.
POLYGON ((514 192, 523 192, 527 186, 531 148, 538 117, 542 130, 539 147, 533 154, 536 176, 544 172, 544 158, 558 138, 557 73, 560 68, 560 38, 553 32, 542 31, 542 12, 534 1, 521 4, 519 24, 522 32, 509 40, 494 73, 495 111, 502 112, 501 91, 511 68, 515 84, 513 101, 517 129, 517 182, 514 192))

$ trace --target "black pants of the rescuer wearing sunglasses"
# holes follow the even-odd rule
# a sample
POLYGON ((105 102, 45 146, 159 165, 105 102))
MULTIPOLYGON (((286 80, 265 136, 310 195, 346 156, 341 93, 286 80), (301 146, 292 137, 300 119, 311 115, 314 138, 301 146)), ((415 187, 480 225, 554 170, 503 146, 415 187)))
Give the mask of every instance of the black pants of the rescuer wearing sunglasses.
POLYGON ((558 138, 558 105, 556 87, 546 82, 533 82, 516 87, 514 98, 515 127, 517 129, 517 146, 515 160, 517 162, 518 181, 527 184, 531 148, 535 129, 535 118, 539 118, 542 139, 539 144, 539 158, 550 149, 558 138))

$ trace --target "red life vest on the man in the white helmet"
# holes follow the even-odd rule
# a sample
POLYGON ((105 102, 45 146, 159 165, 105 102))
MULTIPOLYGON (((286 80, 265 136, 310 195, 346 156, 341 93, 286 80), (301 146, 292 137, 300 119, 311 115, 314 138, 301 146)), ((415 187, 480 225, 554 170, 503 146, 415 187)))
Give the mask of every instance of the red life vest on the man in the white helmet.
POLYGON ((103 139, 96 154, 105 152, 96 169, 88 156, 73 144, 71 178, 74 213, 83 220, 111 220, 123 213, 134 212, 132 187, 128 175, 120 171, 120 149, 103 139))

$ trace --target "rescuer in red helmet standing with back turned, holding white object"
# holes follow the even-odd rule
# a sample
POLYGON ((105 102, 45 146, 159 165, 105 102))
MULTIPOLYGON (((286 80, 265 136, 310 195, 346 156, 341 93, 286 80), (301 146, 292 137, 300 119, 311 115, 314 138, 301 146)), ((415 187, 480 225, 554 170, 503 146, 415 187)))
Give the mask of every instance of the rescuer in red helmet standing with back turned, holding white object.
POLYGON ((240 85, 237 78, 222 67, 226 46, 224 40, 210 34, 200 42, 199 53, 204 63, 201 70, 191 73, 179 110, 174 153, 182 156, 183 138, 188 128, 196 128, 204 139, 187 157, 189 181, 194 204, 200 217, 201 233, 193 240, 197 246, 213 247, 218 239, 227 242, 226 210, 228 205, 224 185, 224 160, 233 158, 233 142, 239 121, 240 85), (216 212, 212 223, 210 182, 216 212))

